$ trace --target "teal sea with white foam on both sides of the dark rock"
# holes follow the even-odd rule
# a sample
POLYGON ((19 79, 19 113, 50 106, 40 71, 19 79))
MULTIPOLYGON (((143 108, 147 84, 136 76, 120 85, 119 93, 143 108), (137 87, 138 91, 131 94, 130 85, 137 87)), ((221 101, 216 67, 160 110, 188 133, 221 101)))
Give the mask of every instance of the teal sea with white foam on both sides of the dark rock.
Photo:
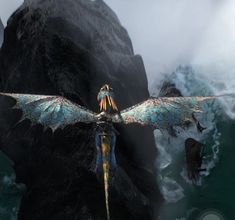
MULTIPOLYGON (((179 67, 164 80, 175 83, 184 96, 212 95, 231 92, 223 83, 210 81, 195 73, 192 67, 179 67)), ((157 95, 161 82, 151 89, 157 95)), ((235 85, 235 84, 234 84, 235 85)), ((224 219, 235 219, 235 101, 220 99, 203 106, 198 119, 207 129, 198 133, 195 126, 178 129, 178 137, 155 131, 160 156, 156 161, 156 177, 166 203, 160 220, 200 220, 206 211, 216 211, 224 219), (192 184, 185 170, 184 141, 192 137, 205 144, 203 168, 198 183, 192 184)), ((15 184, 12 162, 0 153, 0 220, 16 220, 20 200, 25 191, 15 184)))

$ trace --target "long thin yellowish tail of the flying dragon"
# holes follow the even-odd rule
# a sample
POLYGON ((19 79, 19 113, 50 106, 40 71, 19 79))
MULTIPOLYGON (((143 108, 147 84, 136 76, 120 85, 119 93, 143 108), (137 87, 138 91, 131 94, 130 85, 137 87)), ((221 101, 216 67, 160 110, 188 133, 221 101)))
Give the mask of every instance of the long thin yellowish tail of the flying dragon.
POLYGON ((109 154, 110 154, 110 140, 108 136, 101 137, 102 159, 103 159, 103 175, 104 175, 104 192, 107 219, 110 220, 109 212, 109 154))

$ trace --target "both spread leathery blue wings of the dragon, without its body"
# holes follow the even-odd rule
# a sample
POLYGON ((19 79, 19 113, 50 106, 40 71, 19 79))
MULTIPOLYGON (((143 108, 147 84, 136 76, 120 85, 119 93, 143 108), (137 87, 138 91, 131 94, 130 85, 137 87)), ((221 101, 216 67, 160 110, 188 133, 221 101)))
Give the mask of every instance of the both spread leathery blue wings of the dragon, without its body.
MULTIPOLYGON (((41 123, 53 131, 77 122, 98 122, 96 113, 60 96, 0 94, 16 100, 14 108, 22 110, 22 120, 28 118, 33 124, 41 123)), ((103 98, 106 99, 106 95, 103 98)), ((113 123, 139 123, 157 129, 181 126, 186 121, 192 121, 192 113, 201 112, 202 102, 215 98, 217 97, 150 98, 120 114, 111 115, 111 119, 113 123)))

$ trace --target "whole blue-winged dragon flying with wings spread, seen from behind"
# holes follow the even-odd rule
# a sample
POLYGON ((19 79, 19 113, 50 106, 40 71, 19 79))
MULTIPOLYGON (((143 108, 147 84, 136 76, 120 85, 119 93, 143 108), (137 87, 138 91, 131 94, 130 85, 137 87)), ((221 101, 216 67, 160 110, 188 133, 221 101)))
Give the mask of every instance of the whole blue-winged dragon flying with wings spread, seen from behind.
POLYGON ((95 113, 62 96, 15 93, 0 93, 0 95, 15 100, 13 108, 22 111, 21 120, 30 119, 32 124, 42 124, 46 128, 51 128, 53 132, 79 122, 96 124, 95 172, 103 173, 108 220, 110 220, 109 177, 110 172, 114 172, 117 168, 115 144, 118 132, 114 124, 137 123, 160 130, 175 126, 183 127, 187 122, 195 122, 194 113, 202 112, 202 103, 221 97, 150 97, 146 101, 119 111, 114 91, 106 84, 101 87, 97 96, 100 112, 95 113))

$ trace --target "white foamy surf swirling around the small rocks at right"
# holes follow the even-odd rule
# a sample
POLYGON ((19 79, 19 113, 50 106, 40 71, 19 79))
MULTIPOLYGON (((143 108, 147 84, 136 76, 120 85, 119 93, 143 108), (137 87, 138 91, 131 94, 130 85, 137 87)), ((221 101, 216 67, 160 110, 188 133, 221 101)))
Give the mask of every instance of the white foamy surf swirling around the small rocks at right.
MULTIPOLYGON (((218 94, 217 87, 213 87, 214 84, 206 79, 204 75, 196 73, 192 66, 178 67, 173 74, 165 75, 163 81, 175 84, 183 96, 218 94)), ((159 89, 160 84, 152 94, 156 95, 159 89)), ((184 143, 187 138, 194 138, 206 146, 202 164, 202 168, 206 168, 206 171, 201 173, 197 185, 201 186, 204 178, 210 175, 219 161, 221 148, 221 132, 217 127, 217 118, 224 117, 225 112, 233 118, 231 108, 231 101, 228 100, 218 100, 205 104, 203 106, 204 113, 197 114, 197 119, 202 122, 203 127, 206 127, 203 133, 199 133, 194 125, 191 125, 187 130, 177 129, 177 138, 170 136, 167 132, 162 133, 158 130, 154 132, 159 151, 159 157, 156 161, 159 170, 158 182, 166 202, 175 203, 181 200, 184 197, 185 184, 186 186, 192 184, 192 181, 187 177, 185 161, 182 160, 182 158, 185 158, 184 143)))

